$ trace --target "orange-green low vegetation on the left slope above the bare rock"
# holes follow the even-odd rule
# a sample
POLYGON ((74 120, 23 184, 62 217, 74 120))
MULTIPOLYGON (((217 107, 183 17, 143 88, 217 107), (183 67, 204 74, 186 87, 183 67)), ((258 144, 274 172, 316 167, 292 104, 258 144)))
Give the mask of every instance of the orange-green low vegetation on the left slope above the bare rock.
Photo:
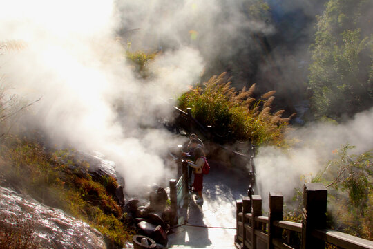
POLYGON ((89 164, 75 151, 47 151, 37 142, 7 136, 0 147, 0 170, 10 185, 46 205, 97 228, 117 246, 128 241, 132 231, 120 221, 122 210, 115 201, 115 178, 91 178, 89 164))

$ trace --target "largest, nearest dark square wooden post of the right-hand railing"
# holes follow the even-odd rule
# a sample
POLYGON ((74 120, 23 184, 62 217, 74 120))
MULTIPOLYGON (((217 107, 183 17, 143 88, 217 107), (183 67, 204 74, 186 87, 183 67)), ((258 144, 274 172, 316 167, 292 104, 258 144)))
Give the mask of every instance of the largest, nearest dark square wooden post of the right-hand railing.
POLYGON ((325 229, 327 189, 322 183, 305 183, 303 191, 302 249, 325 248, 325 242, 312 237, 314 229, 325 229))

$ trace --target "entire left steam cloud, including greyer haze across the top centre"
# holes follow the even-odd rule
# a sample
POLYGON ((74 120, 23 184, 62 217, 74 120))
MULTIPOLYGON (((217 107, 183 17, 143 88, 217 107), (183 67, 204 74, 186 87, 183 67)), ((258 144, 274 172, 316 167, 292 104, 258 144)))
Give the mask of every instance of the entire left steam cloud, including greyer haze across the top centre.
MULTIPOLYGON (((164 156, 180 143, 156 121, 198 80, 209 57, 231 53, 242 30, 271 32, 244 15, 245 1, 24 1, 3 3, 0 40, 6 84, 33 105, 21 120, 53 142, 99 151, 117 164, 126 191, 168 177, 164 156), (119 37, 119 38, 118 38, 119 37), (118 38, 118 39, 117 39, 118 38), (141 80, 126 62, 131 50, 163 50, 141 80)), ((245 40, 245 39, 244 39, 245 40)))

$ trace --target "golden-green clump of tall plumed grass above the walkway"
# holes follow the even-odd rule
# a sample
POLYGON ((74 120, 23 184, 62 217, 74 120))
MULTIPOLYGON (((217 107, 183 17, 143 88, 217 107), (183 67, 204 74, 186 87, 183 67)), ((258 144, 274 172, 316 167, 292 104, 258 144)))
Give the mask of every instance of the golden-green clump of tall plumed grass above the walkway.
POLYGON ((241 91, 231 86, 226 73, 215 75, 178 99, 178 107, 191 107, 192 115, 212 131, 231 140, 252 138, 256 145, 283 145, 283 133, 290 118, 284 110, 272 113, 274 93, 254 98, 255 84, 241 91))

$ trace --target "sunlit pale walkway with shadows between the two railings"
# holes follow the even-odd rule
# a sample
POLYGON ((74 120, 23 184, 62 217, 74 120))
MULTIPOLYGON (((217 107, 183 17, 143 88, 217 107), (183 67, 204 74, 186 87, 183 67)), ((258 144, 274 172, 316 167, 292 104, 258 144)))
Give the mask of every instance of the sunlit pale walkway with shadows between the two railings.
POLYGON ((169 234, 169 248, 235 248, 236 199, 247 195, 247 174, 214 161, 209 163, 210 173, 204 176, 204 203, 195 203, 193 196, 187 201, 186 224, 169 234))

